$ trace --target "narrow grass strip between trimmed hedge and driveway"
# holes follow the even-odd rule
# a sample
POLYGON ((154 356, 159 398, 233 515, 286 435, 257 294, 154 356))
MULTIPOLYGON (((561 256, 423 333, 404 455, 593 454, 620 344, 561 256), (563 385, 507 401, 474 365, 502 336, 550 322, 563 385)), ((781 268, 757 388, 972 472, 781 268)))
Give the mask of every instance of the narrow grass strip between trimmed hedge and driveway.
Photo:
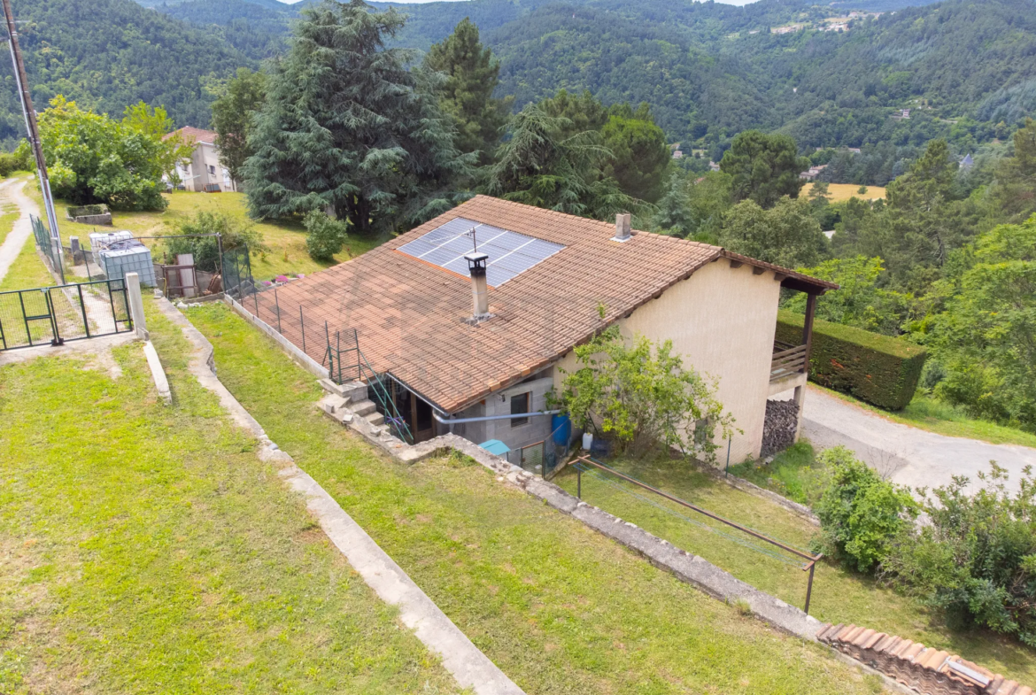
POLYGON ((814 383, 810 383, 809 386, 810 388, 818 388, 829 396, 839 398, 847 403, 858 405, 875 415, 891 419, 894 423, 910 425, 911 427, 946 435, 947 437, 967 437, 968 439, 987 441, 990 444, 1036 446, 1036 434, 997 425, 989 421, 970 417, 961 408, 937 401, 933 398, 924 396, 920 392, 914 396, 914 399, 906 404, 905 408, 892 412, 859 401, 846 394, 831 390, 814 383))

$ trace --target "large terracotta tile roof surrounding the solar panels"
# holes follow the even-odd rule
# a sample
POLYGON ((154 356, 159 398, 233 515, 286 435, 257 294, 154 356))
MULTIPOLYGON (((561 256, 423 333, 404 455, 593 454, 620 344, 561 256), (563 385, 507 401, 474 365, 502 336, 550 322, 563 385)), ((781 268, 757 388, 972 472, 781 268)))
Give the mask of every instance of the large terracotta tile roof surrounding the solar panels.
MULTIPOLYGON (((326 348, 324 321, 333 341, 337 330, 343 331, 343 346, 351 344, 355 329, 375 370, 391 372, 451 413, 547 367, 711 261, 729 257, 759 264, 719 247, 645 232, 620 243, 610 240, 614 231, 612 224, 477 196, 363 256, 280 288, 287 321, 282 329, 301 347, 301 305, 306 349, 317 361, 326 348), (468 325, 462 319, 472 311, 470 280, 397 251, 455 218, 566 248, 491 288, 489 309, 495 318, 468 325)), ((833 287, 760 265, 812 282, 815 291, 833 287)), ((265 312, 261 317, 270 323, 265 312)))

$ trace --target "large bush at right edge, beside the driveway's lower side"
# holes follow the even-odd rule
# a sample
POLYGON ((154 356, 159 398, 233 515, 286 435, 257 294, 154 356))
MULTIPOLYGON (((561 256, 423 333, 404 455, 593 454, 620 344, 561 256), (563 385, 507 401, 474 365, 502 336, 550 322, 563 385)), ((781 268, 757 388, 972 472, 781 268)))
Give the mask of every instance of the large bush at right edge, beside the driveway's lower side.
POLYGON ((991 466, 974 495, 962 476, 925 494, 930 524, 903 526, 882 571, 953 627, 985 626, 1036 646, 1036 480, 1027 467, 1012 496, 1004 469, 991 466))

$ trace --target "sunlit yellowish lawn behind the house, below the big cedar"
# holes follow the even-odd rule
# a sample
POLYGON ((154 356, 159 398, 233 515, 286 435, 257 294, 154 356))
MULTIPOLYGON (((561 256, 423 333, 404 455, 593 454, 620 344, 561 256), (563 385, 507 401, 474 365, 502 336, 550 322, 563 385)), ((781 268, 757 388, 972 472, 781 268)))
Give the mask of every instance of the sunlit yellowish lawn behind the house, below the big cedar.
MULTIPOLYGON (((42 206, 39 190, 32 183, 25 186, 25 192, 37 204, 42 206)), ((163 196, 169 201, 169 207, 162 212, 113 212, 112 227, 95 227, 80 225, 64 219, 67 203, 56 200, 58 226, 61 238, 67 244, 69 236, 78 236, 80 242, 89 248, 90 233, 95 231, 113 231, 127 229, 137 236, 163 236, 176 234, 179 225, 198 211, 227 212, 238 220, 248 221, 246 212, 246 196, 242 193, 191 193, 177 191, 163 196)), ((310 273, 329 267, 335 263, 320 263, 310 258, 306 252, 306 230, 299 224, 253 223, 262 232, 263 239, 270 248, 265 254, 252 255, 252 273, 257 280, 270 280, 281 273, 310 273)), ((349 260, 358 256, 383 239, 365 239, 352 236, 346 241, 342 253, 335 257, 335 262, 349 260)), ((160 241, 146 241, 156 250, 160 241)), ((161 257, 156 256, 161 260, 161 257)))

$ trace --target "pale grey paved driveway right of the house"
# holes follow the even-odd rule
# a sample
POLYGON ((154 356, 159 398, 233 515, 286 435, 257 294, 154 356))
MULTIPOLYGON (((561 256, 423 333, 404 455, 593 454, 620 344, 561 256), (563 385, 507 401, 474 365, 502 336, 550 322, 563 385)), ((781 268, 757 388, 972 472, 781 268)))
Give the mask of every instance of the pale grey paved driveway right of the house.
POLYGON ((966 475, 977 489, 976 474, 989 471, 989 461, 1008 470, 1008 488, 1018 489, 1021 469, 1036 467, 1036 448, 990 444, 948 437, 900 425, 812 386, 806 395, 802 434, 814 446, 843 444, 894 483, 929 489, 966 475))

